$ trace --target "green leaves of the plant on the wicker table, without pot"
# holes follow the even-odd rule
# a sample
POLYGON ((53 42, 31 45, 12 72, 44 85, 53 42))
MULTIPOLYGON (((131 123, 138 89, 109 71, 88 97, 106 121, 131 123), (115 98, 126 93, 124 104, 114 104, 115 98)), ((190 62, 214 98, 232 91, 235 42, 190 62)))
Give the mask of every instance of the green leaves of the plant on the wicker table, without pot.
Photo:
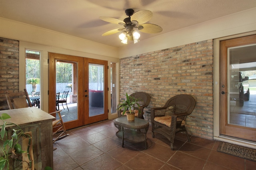
POLYGON ((121 101, 121 103, 117 107, 117 110, 124 109, 123 115, 126 112, 134 113, 134 109, 136 109, 136 107, 140 107, 138 101, 139 99, 135 99, 134 97, 128 96, 128 94, 126 93, 126 99, 121 101))

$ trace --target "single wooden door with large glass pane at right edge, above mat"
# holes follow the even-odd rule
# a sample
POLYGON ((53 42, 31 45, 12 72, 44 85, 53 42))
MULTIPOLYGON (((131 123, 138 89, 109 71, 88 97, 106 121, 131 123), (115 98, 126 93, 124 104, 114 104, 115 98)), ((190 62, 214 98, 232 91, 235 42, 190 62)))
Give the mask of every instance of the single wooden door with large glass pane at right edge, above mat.
POLYGON ((256 141, 256 35, 220 42, 220 134, 256 141))

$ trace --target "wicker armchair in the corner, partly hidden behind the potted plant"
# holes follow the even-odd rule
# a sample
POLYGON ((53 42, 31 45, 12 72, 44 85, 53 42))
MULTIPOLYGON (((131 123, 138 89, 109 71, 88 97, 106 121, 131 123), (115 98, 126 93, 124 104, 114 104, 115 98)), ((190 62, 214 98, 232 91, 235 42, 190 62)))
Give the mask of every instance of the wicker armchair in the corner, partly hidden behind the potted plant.
MULTIPOLYGON (((135 108, 135 109, 139 110, 137 117, 140 118, 140 119, 144 119, 143 110, 144 110, 145 107, 147 107, 149 105, 149 102, 150 102, 149 94, 145 93, 145 92, 136 92, 136 93, 132 93, 130 96, 134 97, 135 99, 139 99, 138 103, 140 104, 140 108, 135 108)), ((123 116, 122 112, 123 111, 121 111, 121 110, 117 111, 118 117, 123 116)))

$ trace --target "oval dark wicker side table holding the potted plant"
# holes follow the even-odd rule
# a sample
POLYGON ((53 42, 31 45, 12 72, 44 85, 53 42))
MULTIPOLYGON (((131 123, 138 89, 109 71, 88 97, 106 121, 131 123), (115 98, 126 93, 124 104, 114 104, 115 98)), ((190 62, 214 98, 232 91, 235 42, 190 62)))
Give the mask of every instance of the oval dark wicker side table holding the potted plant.
POLYGON ((122 147, 126 140, 134 143, 145 142, 145 149, 147 149, 148 121, 135 117, 133 122, 128 122, 126 117, 118 117, 114 120, 114 125, 118 128, 116 136, 122 138, 122 147))

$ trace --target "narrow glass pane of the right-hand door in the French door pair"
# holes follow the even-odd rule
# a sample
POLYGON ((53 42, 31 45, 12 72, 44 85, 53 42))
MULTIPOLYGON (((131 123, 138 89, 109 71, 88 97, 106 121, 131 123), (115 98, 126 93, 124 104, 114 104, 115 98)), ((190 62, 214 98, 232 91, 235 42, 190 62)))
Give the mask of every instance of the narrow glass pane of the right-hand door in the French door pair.
POLYGON ((89 117, 104 114, 104 65, 89 64, 89 117))

